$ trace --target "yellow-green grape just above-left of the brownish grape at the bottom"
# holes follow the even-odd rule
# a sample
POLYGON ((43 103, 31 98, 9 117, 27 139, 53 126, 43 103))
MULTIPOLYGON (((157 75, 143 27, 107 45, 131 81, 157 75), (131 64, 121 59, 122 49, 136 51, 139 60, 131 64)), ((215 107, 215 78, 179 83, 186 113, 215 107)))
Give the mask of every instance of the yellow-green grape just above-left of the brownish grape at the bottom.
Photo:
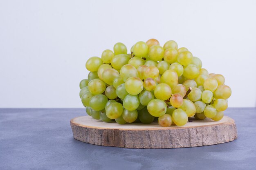
POLYGON ((155 117, 164 115, 167 111, 167 105, 160 99, 153 99, 148 103, 148 113, 155 117))

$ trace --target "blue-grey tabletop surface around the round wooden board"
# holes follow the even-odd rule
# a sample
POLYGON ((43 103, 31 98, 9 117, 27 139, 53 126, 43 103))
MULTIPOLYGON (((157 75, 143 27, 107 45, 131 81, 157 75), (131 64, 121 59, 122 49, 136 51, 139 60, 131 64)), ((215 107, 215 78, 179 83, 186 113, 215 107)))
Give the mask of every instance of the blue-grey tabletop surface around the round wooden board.
POLYGON ((0 170, 255 170, 256 108, 228 108, 238 139, 177 149, 96 146, 73 138, 85 109, 1 108, 0 170))

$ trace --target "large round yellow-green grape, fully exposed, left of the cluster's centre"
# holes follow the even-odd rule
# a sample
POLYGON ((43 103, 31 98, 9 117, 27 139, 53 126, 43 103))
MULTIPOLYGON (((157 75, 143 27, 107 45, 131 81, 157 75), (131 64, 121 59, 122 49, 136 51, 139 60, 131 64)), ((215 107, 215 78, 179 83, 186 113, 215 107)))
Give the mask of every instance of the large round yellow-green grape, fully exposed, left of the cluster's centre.
POLYGON ((138 95, 143 90, 143 82, 138 77, 130 77, 125 82, 125 89, 130 95, 138 95))

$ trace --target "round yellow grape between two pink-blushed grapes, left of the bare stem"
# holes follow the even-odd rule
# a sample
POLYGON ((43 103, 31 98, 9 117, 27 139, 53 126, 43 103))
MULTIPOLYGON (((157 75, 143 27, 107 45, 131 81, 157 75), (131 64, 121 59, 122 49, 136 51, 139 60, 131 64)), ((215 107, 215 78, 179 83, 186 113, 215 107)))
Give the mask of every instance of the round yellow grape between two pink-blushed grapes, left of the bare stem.
POLYGON ((166 83, 160 83, 155 87, 154 95, 157 99, 167 100, 172 95, 171 87, 166 83))

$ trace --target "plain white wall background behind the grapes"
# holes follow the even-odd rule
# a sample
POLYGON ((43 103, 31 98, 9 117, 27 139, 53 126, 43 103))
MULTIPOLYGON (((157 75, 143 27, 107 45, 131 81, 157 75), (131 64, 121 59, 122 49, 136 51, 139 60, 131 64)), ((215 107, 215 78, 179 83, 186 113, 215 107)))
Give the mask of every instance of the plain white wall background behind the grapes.
POLYGON ((83 107, 85 62, 116 42, 175 40, 256 106, 254 0, 1 0, 0 107, 83 107))

